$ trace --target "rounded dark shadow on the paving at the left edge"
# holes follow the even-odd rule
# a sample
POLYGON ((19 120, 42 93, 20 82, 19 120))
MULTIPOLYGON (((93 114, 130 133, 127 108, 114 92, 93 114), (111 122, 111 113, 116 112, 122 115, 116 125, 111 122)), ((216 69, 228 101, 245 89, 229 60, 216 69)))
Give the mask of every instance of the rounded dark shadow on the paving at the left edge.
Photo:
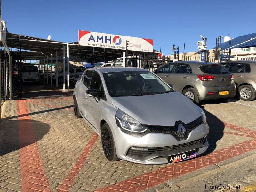
POLYGON ((49 124, 40 121, 2 119, 0 122, 0 156, 41 140, 49 129, 49 124), (31 123, 32 129, 29 127, 31 123))

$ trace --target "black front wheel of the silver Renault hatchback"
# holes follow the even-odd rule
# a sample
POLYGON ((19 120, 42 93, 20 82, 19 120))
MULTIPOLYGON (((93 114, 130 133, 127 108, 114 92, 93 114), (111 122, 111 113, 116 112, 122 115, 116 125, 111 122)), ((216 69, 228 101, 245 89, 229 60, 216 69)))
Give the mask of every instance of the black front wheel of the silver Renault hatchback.
POLYGON ((101 128, 101 143, 104 155, 109 161, 119 161, 116 155, 116 146, 114 137, 107 123, 104 123, 101 128))

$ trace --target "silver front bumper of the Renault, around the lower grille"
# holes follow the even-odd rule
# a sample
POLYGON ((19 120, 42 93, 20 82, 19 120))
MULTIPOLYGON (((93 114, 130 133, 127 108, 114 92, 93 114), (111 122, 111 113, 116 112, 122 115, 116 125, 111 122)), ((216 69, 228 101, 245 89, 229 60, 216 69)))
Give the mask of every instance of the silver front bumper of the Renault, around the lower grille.
MULTIPOLYGON (((189 133, 188 138, 182 141, 176 140, 171 134, 164 133, 148 133, 142 137, 137 137, 122 132, 120 128, 114 129, 112 133, 115 139, 117 156, 123 160, 140 164, 166 164, 168 163, 169 155, 183 153, 193 149, 197 149, 197 155, 200 155, 207 150, 209 145, 207 141, 209 126, 203 123, 194 128, 189 133), (199 140, 202 142, 194 142, 199 140), (193 144, 193 142, 195 144, 193 144), (173 148, 176 146, 175 149, 159 151, 159 148, 170 148, 172 146, 173 148), (132 154, 128 152, 131 147, 156 148, 157 152, 143 157, 132 156, 132 154)), ((138 153, 140 153, 140 151, 138 151, 138 153)))

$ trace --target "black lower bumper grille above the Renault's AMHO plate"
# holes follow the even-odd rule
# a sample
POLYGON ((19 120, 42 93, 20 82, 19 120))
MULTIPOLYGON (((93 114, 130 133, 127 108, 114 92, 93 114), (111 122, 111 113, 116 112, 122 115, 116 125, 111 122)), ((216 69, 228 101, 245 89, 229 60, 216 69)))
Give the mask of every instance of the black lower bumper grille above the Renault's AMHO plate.
POLYGON ((147 151, 142 151, 142 150, 135 150, 135 149, 129 149, 127 152, 127 156, 136 156, 136 157, 146 157, 150 154, 153 153, 161 153, 161 152, 165 152, 165 151, 172 151, 175 149, 181 149, 181 148, 186 148, 186 147, 190 147, 190 146, 194 146, 196 144, 205 143, 207 137, 205 138, 201 138, 195 141, 191 141, 188 143, 183 143, 180 145, 172 145, 172 146, 166 146, 166 147, 149 147, 147 148, 147 151))

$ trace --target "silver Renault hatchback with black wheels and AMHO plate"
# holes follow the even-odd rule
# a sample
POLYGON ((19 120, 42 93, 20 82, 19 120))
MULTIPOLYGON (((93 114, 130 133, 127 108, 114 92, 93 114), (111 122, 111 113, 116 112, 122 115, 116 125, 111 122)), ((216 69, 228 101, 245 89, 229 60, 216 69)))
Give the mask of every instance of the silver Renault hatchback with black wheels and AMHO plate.
POLYGON ((87 69, 73 98, 110 161, 174 163, 208 148, 204 111, 146 69, 87 69))

